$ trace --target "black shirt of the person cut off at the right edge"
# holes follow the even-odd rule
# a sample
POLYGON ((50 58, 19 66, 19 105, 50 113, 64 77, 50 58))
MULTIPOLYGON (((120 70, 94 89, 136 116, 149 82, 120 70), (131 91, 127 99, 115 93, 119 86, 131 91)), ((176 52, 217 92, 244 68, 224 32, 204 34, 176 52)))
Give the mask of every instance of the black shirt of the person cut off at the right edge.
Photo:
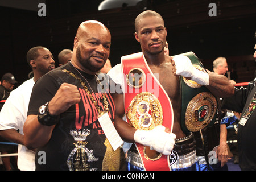
MULTIPOLYGON (((222 108, 245 113, 251 99, 256 93, 256 81, 250 82, 247 88, 235 90, 233 97, 222 100, 222 108)), ((242 117, 241 115, 241 117, 242 117)), ((241 118, 240 118, 241 119, 241 118)), ((245 126, 238 125, 239 165, 243 170, 256 170, 256 111, 251 113, 245 126)))

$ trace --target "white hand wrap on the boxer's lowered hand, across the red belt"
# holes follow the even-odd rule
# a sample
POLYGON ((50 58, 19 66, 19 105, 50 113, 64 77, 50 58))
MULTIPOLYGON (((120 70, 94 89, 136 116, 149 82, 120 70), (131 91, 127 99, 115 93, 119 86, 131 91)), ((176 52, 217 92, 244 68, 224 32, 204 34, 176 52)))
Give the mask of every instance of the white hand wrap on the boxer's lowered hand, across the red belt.
POLYGON ((149 131, 137 130, 134 133, 134 140, 143 146, 149 146, 151 150, 170 155, 174 148, 176 135, 165 132, 165 129, 164 126, 156 126, 149 131))

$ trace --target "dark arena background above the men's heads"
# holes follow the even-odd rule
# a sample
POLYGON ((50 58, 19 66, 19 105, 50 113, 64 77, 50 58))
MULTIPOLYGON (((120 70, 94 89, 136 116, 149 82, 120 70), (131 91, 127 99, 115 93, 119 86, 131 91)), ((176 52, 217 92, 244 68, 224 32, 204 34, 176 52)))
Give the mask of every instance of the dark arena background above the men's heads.
POLYGON ((143 0, 137 6, 101 11, 98 11, 101 0, 39 1, 46 3, 46 17, 38 16, 39 2, 35 0, 9 0, 12 6, 3 5, 1 1, 0 77, 11 72, 18 85, 28 79, 31 71, 26 61, 30 48, 47 47, 57 67, 58 53, 62 49, 73 49, 77 28, 85 20, 99 20, 112 33, 109 57, 112 66, 120 63, 121 56, 141 51, 134 38, 134 20, 144 9, 155 10, 163 16, 170 55, 193 51, 210 70, 212 61, 223 56, 237 71, 237 82, 254 79, 255 0, 143 0), (217 5, 216 17, 208 15, 212 2, 217 5))

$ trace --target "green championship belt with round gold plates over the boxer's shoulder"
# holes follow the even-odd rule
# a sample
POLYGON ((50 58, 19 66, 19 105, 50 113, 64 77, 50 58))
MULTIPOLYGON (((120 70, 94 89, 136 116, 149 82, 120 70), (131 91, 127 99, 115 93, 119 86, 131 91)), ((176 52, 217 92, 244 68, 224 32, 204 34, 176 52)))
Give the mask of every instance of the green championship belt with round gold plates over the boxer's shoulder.
MULTIPOLYGON (((187 56, 195 68, 206 72, 195 53, 187 52, 181 55, 187 56)), ((180 85, 180 124, 183 132, 196 132, 212 126, 217 116, 217 98, 205 86, 182 76, 180 76, 180 85)))

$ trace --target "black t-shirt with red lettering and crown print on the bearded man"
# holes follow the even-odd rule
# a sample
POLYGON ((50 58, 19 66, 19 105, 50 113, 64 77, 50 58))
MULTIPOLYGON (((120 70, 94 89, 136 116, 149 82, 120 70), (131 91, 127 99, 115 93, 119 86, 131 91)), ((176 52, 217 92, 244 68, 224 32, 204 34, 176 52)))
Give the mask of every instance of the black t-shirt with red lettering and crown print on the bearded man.
MULTIPOLYGON (((92 100, 85 92, 77 78, 64 72, 63 69, 75 73, 90 90, 94 100, 100 97, 101 106, 104 106, 102 93, 97 92, 96 77, 81 72, 89 85, 73 67, 71 63, 56 68, 41 77, 32 90, 28 115, 38 114, 41 105, 50 101, 64 82, 76 85, 81 94, 81 101, 72 105, 67 111, 60 114, 60 121, 52 132, 52 137, 46 146, 38 148, 35 155, 36 170, 69 170, 84 165, 87 170, 102 170, 102 161, 106 155, 106 137, 98 122, 98 111, 92 100), (87 130, 88 129, 88 130, 87 130), (89 131, 89 135, 86 132, 89 131), (73 136, 71 135, 73 134, 73 136), (80 133, 80 135, 79 135, 80 133), (81 137, 81 135, 83 135, 81 137), (75 137, 83 138, 80 143, 75 137), (80 156, 79 156, 80 155, 80 156), (46 158, 44 158, 46 156, 46 158), (76 160, 77 159, 77 160, 76 160), (69 167, 68 167, 69 166, 69 167)), ((114 102, 109 93, 106 93, 109 106, 109 117, 114 121, 114 102)))

